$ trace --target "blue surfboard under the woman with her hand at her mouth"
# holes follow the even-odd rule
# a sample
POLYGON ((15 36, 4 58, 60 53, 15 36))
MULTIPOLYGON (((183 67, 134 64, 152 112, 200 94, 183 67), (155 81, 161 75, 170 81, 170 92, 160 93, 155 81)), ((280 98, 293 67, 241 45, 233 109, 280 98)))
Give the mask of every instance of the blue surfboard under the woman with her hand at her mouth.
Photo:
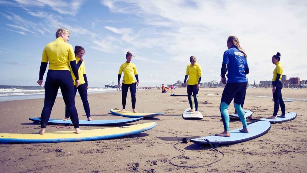
MULTIPOLYGON (((129 118, 129 119, 121 119, 121 120, 79 120, 79 126, 108 126, 108 125, 116 125, 116 124, 126 124, 126 123, 132 123, 134 121, 142 120, 144 117, 140 118, 129 118)), ((40 118, 29 118, 29 120, 34 122, 41 122, 40 118)), ((48 124, 50 125, 71 125, 72 121, 67 120, 59 120, 59 119, 49 119, 48 124)))

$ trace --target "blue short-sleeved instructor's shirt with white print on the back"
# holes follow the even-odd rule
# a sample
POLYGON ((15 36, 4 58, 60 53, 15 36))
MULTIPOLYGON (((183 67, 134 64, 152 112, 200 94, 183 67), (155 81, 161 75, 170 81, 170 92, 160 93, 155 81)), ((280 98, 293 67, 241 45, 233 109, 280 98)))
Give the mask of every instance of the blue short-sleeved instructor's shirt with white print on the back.
POLYGON ((224 63, 228 64, 228 83, 247 82, 245 76, 245 68, 248 68, 247 60, 236 46, 231 46, 230 49, 224 52, 223 64, 224 63))

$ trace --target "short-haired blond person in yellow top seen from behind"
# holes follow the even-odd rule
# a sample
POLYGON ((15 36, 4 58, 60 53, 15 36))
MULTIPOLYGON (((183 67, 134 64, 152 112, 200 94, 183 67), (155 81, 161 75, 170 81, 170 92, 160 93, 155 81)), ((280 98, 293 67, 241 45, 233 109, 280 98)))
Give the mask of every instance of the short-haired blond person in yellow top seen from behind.
POLYGON ((48 62, 49 70, 45 81, 45 104, 41 112, 41 130, 39 132, 41 135, 45 133, 59 87, 61 88, 62 96, 76 133, 82 132, 79 128, 78 112, 75 106, 74 83, 69 66, 71 66, 75 76, 76 87, 80 85, 80 81, 74 50, 72 45, 67 43, 69 41, 69 34, 68 30, 59 28, 56 31, 56 40, 47 44, 43 51, 39 80, 37 81, 39 85, 43 83, 43 76, 48 62))

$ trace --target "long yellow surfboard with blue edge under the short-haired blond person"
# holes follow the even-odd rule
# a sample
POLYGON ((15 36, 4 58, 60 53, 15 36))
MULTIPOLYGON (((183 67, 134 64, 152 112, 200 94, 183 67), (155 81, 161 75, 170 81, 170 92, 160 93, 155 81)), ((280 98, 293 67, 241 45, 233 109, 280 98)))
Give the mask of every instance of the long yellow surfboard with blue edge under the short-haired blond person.
MULTIPOLYGON (((155 127, 157 123, 144 123, 131 126, 83 130, 76 134, 75 131, 37 133, 0 133, 2 143, 53 143, 53 142, 78 142, 90 140, 105 140, 141 133, 155 127)), ((47 129, 48 130, 48 129, 47 129)))

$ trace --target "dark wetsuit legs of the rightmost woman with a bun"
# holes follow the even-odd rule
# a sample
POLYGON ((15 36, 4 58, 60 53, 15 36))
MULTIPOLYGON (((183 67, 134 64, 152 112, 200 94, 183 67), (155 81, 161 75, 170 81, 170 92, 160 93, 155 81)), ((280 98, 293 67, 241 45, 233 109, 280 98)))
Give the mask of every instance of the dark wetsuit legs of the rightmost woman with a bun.
MULTIPOLYGON (((272 82, 273 86, 276 84, 276 81, 272 82)), ((286 113, 286 106, 284 103, 284 100, 282 100, 282 82, 278 81, 276 85, 275 92, 273 93, 273 99, 274 99, 274 113, 273 116, 277 116, 279 105, 282 109, 282 115, 285 115, 286 113)))

